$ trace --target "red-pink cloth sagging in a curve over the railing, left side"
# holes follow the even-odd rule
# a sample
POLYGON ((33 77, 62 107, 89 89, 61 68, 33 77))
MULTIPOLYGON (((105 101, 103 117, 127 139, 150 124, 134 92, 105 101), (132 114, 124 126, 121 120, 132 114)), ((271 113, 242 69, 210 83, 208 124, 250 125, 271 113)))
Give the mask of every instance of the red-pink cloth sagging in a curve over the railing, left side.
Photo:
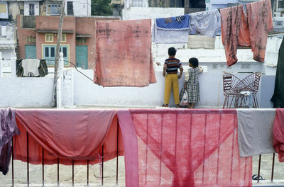
MULTIPOLYGON (((123 155, 122 136, 117 148, 115 110, 17 109, 16 123, 21 135, 13 137, 14 159, 31 164, 99 163, 123 155), (27 152, 28 138, 28 152, 27 152), (104 144, 104 155, 102 145, 104 144), (44 154, 44 155, 43 155, 44 154), (27 157, 28 155, 28 157, 27 157)), ((120 132, 121 133, 121 132, 120 132)))

